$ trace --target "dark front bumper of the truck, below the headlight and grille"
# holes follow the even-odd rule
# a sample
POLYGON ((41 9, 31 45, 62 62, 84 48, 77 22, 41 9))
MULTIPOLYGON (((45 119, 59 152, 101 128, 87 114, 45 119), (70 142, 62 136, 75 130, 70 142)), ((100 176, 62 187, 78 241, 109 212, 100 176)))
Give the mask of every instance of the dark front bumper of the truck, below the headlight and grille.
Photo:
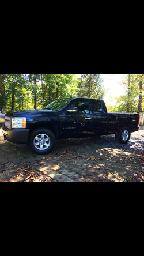
POLYGON ((2 126, 2 133, 4 140, 9 141, 15 146, 25 148, 28 142, 29 129, 7 129, 5 125, 2 126))

